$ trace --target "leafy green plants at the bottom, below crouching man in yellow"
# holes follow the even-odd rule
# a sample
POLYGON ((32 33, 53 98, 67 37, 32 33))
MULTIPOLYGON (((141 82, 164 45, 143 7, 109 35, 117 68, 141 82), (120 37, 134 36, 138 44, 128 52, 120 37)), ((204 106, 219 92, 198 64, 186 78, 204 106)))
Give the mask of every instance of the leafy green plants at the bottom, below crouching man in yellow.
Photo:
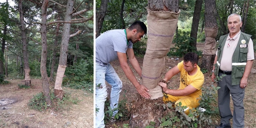
POLYGON ((190 114, 185 114, 183 110, 186 106, 182 106, 181 102, 175 105, 175 111, 173 111, 173 103, 169 102, 163 104, 163 107, 168 110, 168 114, 161 118, 161 128, 204 128, 212 126, 212 116, 218 113, 216 103, 215 92, 218 88, 212 86, 203 88, 202 100, 200 101, 200 107, 206 109, 205 112, 201 112, 199 107, 190 110, 190 114))

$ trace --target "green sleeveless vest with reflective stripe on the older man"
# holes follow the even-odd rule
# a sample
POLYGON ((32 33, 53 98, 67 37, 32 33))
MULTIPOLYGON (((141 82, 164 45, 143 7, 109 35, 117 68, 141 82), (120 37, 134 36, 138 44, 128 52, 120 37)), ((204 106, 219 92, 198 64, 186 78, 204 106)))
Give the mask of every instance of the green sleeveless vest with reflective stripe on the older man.
MULTIPOLYGON (((215 76, 218 76, 218 73, 219 73, 220 61, 223 53, 222 51, 223 51, 225 42, 227 40, 227 37, 228 37, 228 34, 224 36, 220 36, 219 46, 217 49, 218 50, 217 62, 216 64, 214 64, 215 76)), ((248 43, 250 39, 251 39, 251 35, 241 32, 239 41, 237 43, 237 47, 235 48, 234 54, 232 55, 232 74, 231 74, 232 85, 240 85, 240 80, 243 77, 246 62, 247 62, 248 43)))

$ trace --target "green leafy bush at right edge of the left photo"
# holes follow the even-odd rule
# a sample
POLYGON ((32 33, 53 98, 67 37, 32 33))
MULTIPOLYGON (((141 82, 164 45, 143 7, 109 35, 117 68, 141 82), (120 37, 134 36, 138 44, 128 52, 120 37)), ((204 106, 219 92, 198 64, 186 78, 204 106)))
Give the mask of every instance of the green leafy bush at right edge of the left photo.
POLYGON ((65 75, 62 81, 64 86, 93 92, 93 57, 80 59, 67 67, 65 75))

